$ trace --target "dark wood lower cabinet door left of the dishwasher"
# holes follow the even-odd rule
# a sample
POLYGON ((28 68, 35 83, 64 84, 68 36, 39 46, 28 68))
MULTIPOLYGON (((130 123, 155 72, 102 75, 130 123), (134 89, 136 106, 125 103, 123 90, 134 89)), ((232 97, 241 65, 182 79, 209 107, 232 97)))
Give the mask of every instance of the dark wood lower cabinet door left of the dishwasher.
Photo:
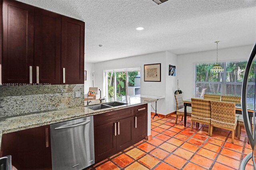
POLYGON ((18 170, 51 170, 50 126, 3 134, 1 153, 12 155, 18 170))

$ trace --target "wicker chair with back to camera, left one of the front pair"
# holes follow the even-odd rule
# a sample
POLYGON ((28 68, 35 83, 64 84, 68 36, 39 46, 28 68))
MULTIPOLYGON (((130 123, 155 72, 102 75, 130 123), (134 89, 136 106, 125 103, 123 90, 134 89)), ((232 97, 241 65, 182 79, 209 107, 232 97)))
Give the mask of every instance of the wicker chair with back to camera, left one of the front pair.
POLYGON ((203 123, 209 125, 208 135, 210 136, 211 125, 211 101, 204 99, 191 99, 192 113, 191 113, 191 127, 193 129, 193 122, 203 123))

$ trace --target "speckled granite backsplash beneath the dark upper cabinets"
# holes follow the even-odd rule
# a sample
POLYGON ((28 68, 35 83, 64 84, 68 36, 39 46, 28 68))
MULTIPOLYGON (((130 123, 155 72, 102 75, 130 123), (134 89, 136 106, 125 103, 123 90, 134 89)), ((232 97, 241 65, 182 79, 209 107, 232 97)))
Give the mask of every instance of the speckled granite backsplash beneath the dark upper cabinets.
POLYGON ((84 105, 84 85, 0 86, 0 117, 84 105), (81 97, 75 98, 75 91, 81 97))

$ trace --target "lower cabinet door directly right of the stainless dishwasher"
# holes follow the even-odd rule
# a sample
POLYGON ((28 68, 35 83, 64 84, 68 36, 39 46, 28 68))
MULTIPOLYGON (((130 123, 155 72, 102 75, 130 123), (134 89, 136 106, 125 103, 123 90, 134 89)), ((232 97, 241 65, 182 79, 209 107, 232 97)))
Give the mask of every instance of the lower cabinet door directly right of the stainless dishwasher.
POLYGON ((115 123, 110 122, 94 127, 95 162, 116 153, 115 123))

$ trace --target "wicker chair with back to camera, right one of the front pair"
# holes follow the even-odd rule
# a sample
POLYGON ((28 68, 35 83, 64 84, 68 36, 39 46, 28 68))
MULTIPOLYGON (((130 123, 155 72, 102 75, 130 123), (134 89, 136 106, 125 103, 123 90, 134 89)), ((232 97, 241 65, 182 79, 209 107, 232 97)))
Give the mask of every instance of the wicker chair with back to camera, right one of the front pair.
POLYGON ((238 117, 236 117, 236 104, 229 102, 211 101, 211 129, 224 128, 232 131, 232 143, 234 143, 235 130, 238 117))

